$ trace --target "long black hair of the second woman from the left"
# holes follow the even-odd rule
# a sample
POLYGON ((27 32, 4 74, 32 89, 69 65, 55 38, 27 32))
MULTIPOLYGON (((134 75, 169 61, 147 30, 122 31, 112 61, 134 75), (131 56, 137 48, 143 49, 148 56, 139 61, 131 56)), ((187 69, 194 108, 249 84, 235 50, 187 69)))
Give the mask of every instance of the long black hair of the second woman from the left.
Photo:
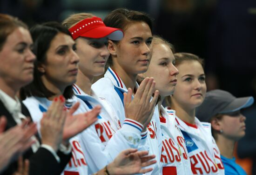
MULTIPOLYGON (((63 33, 70 37, 72 36, 67 28, 63 27, 58 22, 47 22, 41 25, 36 25, 30 29, 30 33, 34 41, 33 52, 37 58, 34 62, 34 80, 27 86, 20 89, 20 98, 22 100, 29 96, 49 98, 55 94, 51 92, 50 89, 47 89, 43 84, 41 76, 44 73, 41 73, 38 70, 38 66, 46 62, 47 50, 57 34, 63 33)), ((74 95, 72 85, 65 88, 63 95, 66 99, 72 98, 74 95)))

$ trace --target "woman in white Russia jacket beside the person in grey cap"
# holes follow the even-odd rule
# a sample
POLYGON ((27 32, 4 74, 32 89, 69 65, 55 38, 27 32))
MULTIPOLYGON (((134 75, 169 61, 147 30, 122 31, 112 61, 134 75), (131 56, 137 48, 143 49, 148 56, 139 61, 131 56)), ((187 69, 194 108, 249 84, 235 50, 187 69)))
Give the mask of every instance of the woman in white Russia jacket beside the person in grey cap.
POLYGON ((210 123, 195 117, 195 108, 202 104, 206 94, 203 60, 194 54, 176 53, 175 66, 179 70, 174 94, 167 112, 176 114, 176 123, 185 138, 195 175, 224 174, 220 151, 211 135, 210 123))

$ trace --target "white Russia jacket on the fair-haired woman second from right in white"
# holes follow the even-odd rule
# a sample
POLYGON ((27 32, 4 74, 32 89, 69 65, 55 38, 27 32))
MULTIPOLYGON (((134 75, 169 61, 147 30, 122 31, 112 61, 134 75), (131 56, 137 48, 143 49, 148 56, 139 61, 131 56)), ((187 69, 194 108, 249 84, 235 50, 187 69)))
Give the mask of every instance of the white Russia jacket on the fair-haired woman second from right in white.
POLYGON ((189 153, 180 128, 175 123, 175 111, 160 108, 163 147, 161 168, 163 175, 193 175, 190 166, 189 153))

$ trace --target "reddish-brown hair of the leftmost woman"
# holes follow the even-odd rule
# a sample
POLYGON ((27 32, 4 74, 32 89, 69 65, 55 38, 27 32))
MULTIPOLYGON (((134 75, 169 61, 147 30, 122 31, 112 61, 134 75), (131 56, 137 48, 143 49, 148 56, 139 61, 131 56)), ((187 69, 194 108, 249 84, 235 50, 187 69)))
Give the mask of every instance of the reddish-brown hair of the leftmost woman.
POLYGON ((5 44, 9 34, 12 34, 13 31, 18 27, 28 29, 27 25, 18 18, 0 13, 0 51, 2 50, 2 47, 5 44))

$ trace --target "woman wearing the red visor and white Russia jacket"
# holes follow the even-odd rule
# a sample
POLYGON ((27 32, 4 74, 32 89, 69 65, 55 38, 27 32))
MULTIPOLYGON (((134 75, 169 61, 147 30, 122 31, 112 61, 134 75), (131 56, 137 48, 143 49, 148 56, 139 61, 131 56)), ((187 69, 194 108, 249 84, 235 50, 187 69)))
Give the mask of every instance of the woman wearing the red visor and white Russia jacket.
MULTIPOLYGON (((143 144, 143 139, 141 140, 143 125, 141 119, 136 119, 136 116, 133 115, 139 113, 141 108, 137 107, 136 101, 125 103, 133 104, 135 108, 126 109, 127 114, 131 117, 128 117, 120 127, 118 116, 108 100, 99 98, 97 93, 91 89, 94 77, 104 74, 109 57, 108 39, 117 42, 123 38, 123 32, 118 28, 106 27, 100 18, 90 13, 73 14, 62 24, 69 28, 69 32, 76 42, 76 53, 80 57, 77 81, 73 85, 74 93, 85 102, 86 111, 96 105, 101 106, 98 121, 81 134, 81 148, 84 151, 90 174, 112 162, 124 149, 141 149, 139 145, 143 144)), ((145 87, 150 86, 149 83, 145 85, 145 87)), ((144 91, 143 86, 141 91, 144 91)), ((144 91, 143 94, 145 96, 149 93, 144 91)), ((143 107, 146 108, 146 105, 146 103, 143 104, 143 107)), ((140 116, 142 119, 148 117, 140 116)), ((149 170, 152 169, 144 169, 141 173, 149 170)))

